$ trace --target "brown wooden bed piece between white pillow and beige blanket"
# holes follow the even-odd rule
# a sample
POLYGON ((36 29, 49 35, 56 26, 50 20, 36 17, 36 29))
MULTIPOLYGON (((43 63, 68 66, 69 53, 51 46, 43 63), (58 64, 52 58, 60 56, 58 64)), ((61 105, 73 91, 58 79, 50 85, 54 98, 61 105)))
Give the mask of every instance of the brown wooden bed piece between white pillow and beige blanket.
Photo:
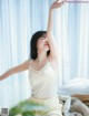
POLYGON ((75 94, 75 95, 71 95, 71 97, 77 97, 87 106, 89 106, 89 95, 75 94))

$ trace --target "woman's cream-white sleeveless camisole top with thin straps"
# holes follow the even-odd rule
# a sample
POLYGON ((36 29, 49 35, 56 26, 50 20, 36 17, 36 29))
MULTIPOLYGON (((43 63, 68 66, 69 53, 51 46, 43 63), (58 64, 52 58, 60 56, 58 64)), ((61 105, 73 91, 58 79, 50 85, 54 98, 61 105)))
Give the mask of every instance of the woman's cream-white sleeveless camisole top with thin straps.
POLYGON ((57 96, 58 73, 50 62, 39 71, 29 66, 29 78, 33 97, 49 98, 57 96))

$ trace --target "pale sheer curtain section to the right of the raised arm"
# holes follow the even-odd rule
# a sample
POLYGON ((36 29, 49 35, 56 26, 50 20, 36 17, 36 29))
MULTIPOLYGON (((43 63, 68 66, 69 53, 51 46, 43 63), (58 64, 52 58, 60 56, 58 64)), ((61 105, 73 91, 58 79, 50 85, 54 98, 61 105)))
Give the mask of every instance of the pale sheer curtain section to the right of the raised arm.
POLYGON ((66 3, 56 11, 59 86, 72 78, 89 78, 89 3, 66 3))

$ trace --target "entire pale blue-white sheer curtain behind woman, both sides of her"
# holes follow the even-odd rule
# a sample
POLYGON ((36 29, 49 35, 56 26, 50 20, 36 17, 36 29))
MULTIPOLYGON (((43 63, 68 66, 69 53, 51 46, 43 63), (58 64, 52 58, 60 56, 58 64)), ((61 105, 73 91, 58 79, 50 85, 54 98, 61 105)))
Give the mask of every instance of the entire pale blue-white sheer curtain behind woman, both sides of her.
MULTIPOLYGON (((53 0, 0 0, 0 75, 29 57, 30 38, 47 30, 53 0)), ((59 86, 76 77, 89 78, 89 3, 66 3, 55 11, 55 36, 59 51, 59 86)), ((30 96, 28 71, 0 82, 0 107, 30 96)))

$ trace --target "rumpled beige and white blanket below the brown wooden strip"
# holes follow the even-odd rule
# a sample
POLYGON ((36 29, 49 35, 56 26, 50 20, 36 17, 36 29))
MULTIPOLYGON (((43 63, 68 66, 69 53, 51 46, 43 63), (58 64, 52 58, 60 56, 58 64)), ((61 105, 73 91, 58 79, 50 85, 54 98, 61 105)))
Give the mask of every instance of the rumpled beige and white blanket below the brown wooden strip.
POLYGON ((59 103, 63 105, 63 116, 89 116, 89 107, 76 97, 59 95, 59 103))

